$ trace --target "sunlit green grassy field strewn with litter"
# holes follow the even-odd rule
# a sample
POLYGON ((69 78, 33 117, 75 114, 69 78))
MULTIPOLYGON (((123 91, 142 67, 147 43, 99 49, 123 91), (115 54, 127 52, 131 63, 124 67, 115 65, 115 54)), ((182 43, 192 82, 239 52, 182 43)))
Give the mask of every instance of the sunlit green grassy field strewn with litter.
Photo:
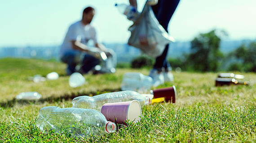
MULTIPOLYGON (((217 73, 173 72, 174 82, 157 88, 177 87, 176 103, 147 105, 141 122, 118 125, 113 134, 85 139, 35 126, 44 106, 71 107, 72 98, 120 90, 122 75, 148 69, 117 69, 115 74, 84 75, 86 84, 71 88, 65 65, 37 59, 0 59, 0 142, 256 142, 256 74, 241 73, 250 86, 215 87, 217 73), (58 80, 34 83, 29 76, 56 71, 58 80), (36 91, 43 99, 19 102, 18 93, 36 91)), ((236 72, 238 73, 238 72, 236 72)))

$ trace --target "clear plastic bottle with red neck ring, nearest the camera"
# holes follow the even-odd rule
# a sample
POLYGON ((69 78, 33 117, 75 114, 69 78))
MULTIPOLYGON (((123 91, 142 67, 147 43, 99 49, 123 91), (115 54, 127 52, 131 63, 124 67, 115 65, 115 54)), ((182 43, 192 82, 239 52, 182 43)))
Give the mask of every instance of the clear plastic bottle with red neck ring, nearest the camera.
POLYGON ((55 130, 75 136, 103 135, 113 133, 116 125, 94 109, 59 108, 48 106, 39 110, 35 124, 40 130, 55 130))

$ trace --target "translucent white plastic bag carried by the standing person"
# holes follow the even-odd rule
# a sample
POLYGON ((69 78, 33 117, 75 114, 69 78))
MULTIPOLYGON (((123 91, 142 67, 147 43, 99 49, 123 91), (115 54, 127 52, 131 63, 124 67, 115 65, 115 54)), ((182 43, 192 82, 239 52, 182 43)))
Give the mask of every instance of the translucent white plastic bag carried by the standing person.
POLYGON ((138 20, 128 30, 131 31, 128 44, 154 58, 163 53, 168 43, 174 42, 174 39, 159 24, 151 6, 147 3, 138 20))

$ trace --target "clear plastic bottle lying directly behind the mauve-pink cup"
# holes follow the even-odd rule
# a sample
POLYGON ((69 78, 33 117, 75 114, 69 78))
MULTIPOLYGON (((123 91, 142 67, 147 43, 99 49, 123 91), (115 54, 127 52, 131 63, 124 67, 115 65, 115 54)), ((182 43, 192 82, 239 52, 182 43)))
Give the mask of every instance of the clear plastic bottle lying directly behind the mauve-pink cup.
POLYGON ((141 105, 149 105, 152 101, 152 94, 140 94, 135 91, 119 91, 114 93, 104 93, 97 96, 75 97, 72 105, 75 108, 89 108, 100 111, 105 103, 124 102, 137 100, 141 105))

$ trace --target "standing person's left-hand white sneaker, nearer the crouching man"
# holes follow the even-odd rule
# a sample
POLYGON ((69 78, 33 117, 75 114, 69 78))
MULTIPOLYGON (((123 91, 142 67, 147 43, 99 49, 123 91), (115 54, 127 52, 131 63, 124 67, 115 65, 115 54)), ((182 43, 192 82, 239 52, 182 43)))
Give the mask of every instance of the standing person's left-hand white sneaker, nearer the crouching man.
POLYGON ((152 69, 149 74, 153 79, 153 86, 157 87, 164 83, 163 73, 161 71, 157 71, 156 69, 152 69))

